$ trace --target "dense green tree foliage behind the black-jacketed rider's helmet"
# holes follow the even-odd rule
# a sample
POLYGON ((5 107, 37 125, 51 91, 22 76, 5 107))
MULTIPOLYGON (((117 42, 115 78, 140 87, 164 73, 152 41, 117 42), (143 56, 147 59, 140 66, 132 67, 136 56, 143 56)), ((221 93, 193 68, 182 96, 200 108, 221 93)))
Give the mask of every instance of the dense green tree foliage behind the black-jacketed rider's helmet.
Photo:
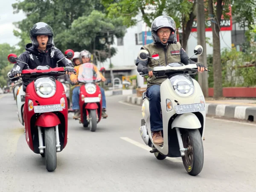
MULTIPOLYGON (((15 23, 20 31, 14 31, 15 36, 21 39, 18 45, 22 51, 30 42, 31 27, 37 22, 45 22, 52 27, 55 47, 62 51, 88 49, 93 53, 96 49, 105 53, 108 51, 106 43, 102 44, 99 40, 106 37, 107 30, 111 30, 112 39, 113 35, 124 35, 121 19, 106 17, 101 0, 24 0, 12 6, 15 13, 22 10, 26 14, 25 19, 15 23)), ((115 52, 115 49, 111 49, 112 55, 115 52)), ((101 60, 104 61, 106 58, 103 54, 101 60)))

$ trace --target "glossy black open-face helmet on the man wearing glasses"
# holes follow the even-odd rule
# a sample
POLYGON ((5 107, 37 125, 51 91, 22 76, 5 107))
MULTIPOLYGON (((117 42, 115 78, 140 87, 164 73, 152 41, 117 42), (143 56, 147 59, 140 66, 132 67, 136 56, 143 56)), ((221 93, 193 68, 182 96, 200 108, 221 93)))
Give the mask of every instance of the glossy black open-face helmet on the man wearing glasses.
POLYGON ((175 21, 173 20, 172 17, 169 17, 167 15, 162 15, 162 16, 155 18, 151 24, 151 33, 152 33, 152 38, 153 38, 154 43, 155 44, 160 44, 160 43, 163 44, 157 35, 157 30, 162 27, 167 27, 167 28, 171 29, 171 35, 168 39, 168 43, 177 44, 175 21))

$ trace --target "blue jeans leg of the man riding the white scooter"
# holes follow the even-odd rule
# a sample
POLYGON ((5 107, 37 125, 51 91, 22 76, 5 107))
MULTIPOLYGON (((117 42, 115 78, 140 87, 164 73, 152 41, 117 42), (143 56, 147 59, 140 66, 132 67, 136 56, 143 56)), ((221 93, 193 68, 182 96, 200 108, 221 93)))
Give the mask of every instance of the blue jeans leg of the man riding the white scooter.
POLYGON ((163 130, 163 120, 160 116, 161 112, 161 97, 160 97, 160 85, 151 85, 146 92, 146 96, 149 98, 149 112, 150 112, 150 127, 151 131, 163 130))

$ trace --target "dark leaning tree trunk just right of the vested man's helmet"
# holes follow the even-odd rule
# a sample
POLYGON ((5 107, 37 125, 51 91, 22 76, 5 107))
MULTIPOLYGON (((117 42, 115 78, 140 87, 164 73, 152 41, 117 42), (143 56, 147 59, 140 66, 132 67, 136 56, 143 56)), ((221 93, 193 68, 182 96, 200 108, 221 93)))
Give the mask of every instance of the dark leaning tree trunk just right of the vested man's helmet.
POLYGON ((189 14, 189 20, 185 23, 183 23, 183 32, 182 32, 182 48, 184 50, 186 50, 186 47, 187 47, 187 43, 188 43, 188 39, 189 39, 189 35, 190 35, 190 32, 191 32, 191 29, 192 29, 192 25, 193 25, 193 21, 196 17, 196 14, 195 14, 195 5, 196 5, 196 2, 193 4, 193 7, 191 9, 191 12, 189 14))

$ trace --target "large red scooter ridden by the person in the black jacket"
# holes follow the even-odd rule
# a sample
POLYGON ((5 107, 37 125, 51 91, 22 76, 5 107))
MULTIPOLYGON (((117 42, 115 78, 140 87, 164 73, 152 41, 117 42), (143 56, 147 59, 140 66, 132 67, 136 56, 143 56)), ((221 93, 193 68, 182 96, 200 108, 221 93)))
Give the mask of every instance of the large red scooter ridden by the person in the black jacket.
MULTIPOLYGON (((74 52, 68 49, 65 55, 64 58, 71 59, 74 52)), ((19 61, 15 54, 10 54, 8 60, 13 64, 19 61)), ((26 87, 24 104, 26 142, 34 153, 45 157, 49 172, 57 167, 56 152, 67 145, 67 97, 63 85, 54 78, 65 74, 65 71, 63 67, 58 67, 58 62, 56 68, 38 66, 33 70, 27 64, 21 75, 23 81, 33 80, 26 87)))

